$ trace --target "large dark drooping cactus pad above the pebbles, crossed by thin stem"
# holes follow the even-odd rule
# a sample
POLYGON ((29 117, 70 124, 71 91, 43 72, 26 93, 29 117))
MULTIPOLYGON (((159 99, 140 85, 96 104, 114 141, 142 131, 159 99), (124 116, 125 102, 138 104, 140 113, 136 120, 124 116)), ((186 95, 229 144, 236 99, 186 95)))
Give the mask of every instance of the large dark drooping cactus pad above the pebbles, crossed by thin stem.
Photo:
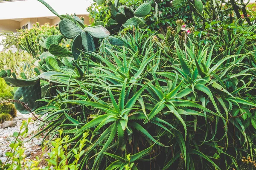
MULTIPOLYGON (((18 88, 15 92, 14 99, 24 102, 31 111, 35 111, 38 107, 36 100, 41 99, 40 81, 38 80, 34 85, 18 88)), ((30 113, 30 111, 26 110, 20 103, 15 103, 15 108, 22 114, 30 113)))

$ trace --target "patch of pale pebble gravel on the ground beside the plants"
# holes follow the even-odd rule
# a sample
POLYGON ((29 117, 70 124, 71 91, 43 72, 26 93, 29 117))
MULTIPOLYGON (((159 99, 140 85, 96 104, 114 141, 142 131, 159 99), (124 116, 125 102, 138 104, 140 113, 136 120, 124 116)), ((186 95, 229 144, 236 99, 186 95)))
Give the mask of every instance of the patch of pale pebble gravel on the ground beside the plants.
MULTIPOLYGON (((13 119, 13 122, 8 122, 11 126, 3 126, 4 122, 2 125, 0 125, 0 160, 2 162, 5 162, 7 160, 6 157, 6 152, 9 152, 11 150, 11 147, 9 147, 9 144, 11 144, 12 141, 15 141, 15 136, 13 136, 14 132, 19 132, 20 131, 20 126, 22 125, 23 120, 29 119, 29 117, 32 117, 32 114, 21 114, 17 112, 17 117, 13 119), (3 128, 1 128, 3 127, 3 128)), ((39 150, 41 150, 41 142, 42 139, 37 139, 31 137, 34 135, 35 131, 38 129, 38 121, 33 122, 32 124, 28 125, 28 136, 23 140, 24 145, 23 147, 25 148, 25 155, 26 158, 29 159, 31 153, 36 154, 39 150), (31 139, 31 140, 30 140, 31 139)))

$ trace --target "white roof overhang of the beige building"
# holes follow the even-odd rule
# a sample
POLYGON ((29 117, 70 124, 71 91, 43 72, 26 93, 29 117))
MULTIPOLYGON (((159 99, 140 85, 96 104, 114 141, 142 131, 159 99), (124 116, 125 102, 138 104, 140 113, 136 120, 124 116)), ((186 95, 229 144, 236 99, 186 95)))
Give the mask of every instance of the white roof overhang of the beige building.
MULTIPOLYGON (((45 0, 58 14, 89 15, 90 0, 45 0)), ((0 20, 56 17, 37 0, 17 0, 0 3, 0 20)))

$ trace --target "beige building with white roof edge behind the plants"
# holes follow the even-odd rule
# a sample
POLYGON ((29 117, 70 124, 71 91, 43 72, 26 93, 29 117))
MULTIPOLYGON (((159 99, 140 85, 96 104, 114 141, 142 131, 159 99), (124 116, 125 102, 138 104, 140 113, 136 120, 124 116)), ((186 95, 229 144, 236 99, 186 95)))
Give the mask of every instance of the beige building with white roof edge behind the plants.
MULTIPOLYGON (((87 8, 90 0, 44 0, 58 14, 76 14, 84 17, 84 24, 89 25, 87 8)), ((0 33, 17 32, 18 29, 29 29, 34 23, 57 25, 60 19, 38 0, 0 0, 0 33)), ((0 41, 4 37, 0 35, 0 41)), ((2 47, 0 46, 0 51, 2 47)))

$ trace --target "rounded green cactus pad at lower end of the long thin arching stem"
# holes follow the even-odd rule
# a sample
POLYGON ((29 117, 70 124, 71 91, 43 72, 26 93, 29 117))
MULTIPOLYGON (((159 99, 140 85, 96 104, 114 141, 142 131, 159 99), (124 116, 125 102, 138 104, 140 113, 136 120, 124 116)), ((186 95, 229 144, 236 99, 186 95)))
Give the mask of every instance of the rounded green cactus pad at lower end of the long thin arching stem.
POLYGON ((77 26, 73 21, 69 19, 63 19, 59 23, 59 29, 61 31, 61 34, 68 38, 68 39, 74 39, 78 34, 81 34, 82 29, 81 27, 77 26))

